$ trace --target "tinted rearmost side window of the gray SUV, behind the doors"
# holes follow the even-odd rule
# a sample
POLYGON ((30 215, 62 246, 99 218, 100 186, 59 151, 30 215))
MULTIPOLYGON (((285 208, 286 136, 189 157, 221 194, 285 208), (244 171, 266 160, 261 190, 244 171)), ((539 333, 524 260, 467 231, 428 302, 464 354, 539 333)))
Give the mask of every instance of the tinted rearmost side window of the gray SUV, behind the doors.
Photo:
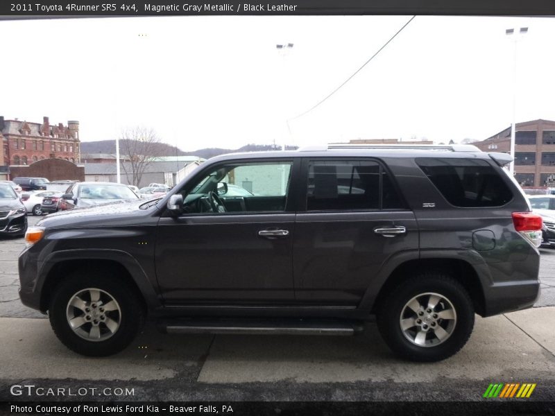
POLYGON ((419 158, 416 164, 455 207, 501 207, 513 198, 497 171, 481 159, 419 158))

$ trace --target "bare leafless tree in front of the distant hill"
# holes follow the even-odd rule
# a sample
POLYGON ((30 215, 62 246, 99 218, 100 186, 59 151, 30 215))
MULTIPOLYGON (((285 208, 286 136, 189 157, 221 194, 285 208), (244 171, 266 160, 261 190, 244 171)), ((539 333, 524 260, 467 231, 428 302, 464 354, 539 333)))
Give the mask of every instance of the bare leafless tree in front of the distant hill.
POLYGON ((162 156, 160 139, 151 128, 133 127, 123 130, 119 139, 120 157, 128 162, 121 164, 127 182, 139 186, 148 165, 162 156), (132 180, 130 181, 130 176, 132 180))

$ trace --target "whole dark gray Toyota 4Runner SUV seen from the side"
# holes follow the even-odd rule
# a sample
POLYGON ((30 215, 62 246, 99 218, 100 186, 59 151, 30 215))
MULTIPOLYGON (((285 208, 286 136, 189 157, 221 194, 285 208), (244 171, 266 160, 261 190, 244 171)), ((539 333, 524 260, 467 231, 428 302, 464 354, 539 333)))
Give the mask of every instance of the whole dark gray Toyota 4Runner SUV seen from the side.
POLYGON ((375 317, 393 352, 438 361, 475 313, 538 297, 542 220, 511 160, 474 146, 214 157, 163 198, 46 216, 20 296, 88 356, 121 351, 147 316, 167 332, 334 335, 375 317))

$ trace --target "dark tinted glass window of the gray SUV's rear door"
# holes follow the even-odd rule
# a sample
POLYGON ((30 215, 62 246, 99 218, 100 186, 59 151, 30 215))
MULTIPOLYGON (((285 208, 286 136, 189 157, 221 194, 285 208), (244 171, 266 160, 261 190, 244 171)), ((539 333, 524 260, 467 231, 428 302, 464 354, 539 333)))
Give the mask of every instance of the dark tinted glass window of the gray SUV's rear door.
POLYGON ((386 171, 377 162, 309 163, 307 210, 350 211, 401 208, 386 171))

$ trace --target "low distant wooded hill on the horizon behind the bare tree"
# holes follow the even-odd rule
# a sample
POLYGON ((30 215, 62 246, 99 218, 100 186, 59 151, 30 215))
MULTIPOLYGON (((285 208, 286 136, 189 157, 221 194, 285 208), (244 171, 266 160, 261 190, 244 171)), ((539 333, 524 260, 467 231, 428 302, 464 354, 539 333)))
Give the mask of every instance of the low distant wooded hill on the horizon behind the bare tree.
MULTIPOLYGON (((164 156, 198 156, 205 159, 210 159, 210 157, 224 155, 225 153, 234 152, 262 152, 267 150, 281 150, 279 146, 273 146, 271 144, 247 144, 238 149, 222 149, 222 148, 203 148, 195 150, 194 152, 184 152, 177 148, 176 146, 170 146, 169 144, 160 143, 160 155, 164 156)), ((121 143, 119 146, 121 150, 121 143)), ((287 150, 295 150, 297 146, 287 146, 287 150)), ((101 141, 82 141, 81 142, 81 153, 116 153, 116 141, 115 140, 101 140, 101 141)))

